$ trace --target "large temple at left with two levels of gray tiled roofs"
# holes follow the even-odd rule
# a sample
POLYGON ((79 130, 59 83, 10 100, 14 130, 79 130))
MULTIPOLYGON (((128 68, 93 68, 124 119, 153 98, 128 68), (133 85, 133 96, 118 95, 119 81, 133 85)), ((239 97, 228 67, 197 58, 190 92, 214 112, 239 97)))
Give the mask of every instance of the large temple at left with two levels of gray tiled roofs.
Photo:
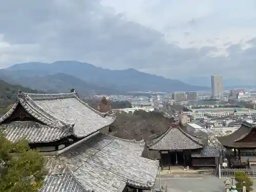
POLYGON ((92 109, 75 91, 19 92, 0 123, 8 140, 27 139, 45 155, 49 173, 40 192, 151 190, 159 161, 141 157, 144 141, 107 135, 114 120, 109 112, 92 109))

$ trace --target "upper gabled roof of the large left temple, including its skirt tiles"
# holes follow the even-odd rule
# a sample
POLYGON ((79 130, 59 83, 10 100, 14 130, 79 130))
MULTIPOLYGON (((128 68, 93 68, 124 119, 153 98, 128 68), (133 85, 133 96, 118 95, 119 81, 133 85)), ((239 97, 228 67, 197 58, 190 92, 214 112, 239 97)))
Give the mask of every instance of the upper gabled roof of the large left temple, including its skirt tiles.
MULTIPOLYGON (((2 126, 9 140, 27 138, 30 142, 50 142, 74 135, 86 137, 110 125, 113 114, 100 113, 84 103, 74 91, 63 94, 31 94, 19 92, 17 102, 0 118, 2 124, 21 104, 32 117, 41 123, 21 123, 24 132, 17 131, 17 123, 2 126), (46 135, 49 137, 46 137, 46 135)), ((4 123, 3 123, 4 124, 4 123)), ((20 128, 20 127, 19 127, 20 128)))

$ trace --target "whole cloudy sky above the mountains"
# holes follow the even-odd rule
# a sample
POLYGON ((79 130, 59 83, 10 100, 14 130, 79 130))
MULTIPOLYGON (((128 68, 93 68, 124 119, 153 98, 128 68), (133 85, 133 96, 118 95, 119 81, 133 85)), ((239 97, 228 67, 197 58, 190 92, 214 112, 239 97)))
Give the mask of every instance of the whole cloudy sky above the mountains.
POLYGON ((0 67, 78 60, 256 82, 255 0, 0 0, 0 67))

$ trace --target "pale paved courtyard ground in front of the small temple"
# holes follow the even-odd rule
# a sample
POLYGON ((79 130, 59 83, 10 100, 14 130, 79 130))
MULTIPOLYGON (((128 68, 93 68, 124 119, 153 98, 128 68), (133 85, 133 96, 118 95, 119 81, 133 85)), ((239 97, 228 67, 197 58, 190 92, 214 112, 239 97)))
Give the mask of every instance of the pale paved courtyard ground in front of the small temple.
MULTIPOLYGON (((256 178, 252 180, 253 191, 256 192, 256 178)), ((155 188, 161 185, 164 188, 167 186, 167 192, 222 192, 225 191, 224 181, 225 178, 214 175, 161 175, 156 180, 155 188)))

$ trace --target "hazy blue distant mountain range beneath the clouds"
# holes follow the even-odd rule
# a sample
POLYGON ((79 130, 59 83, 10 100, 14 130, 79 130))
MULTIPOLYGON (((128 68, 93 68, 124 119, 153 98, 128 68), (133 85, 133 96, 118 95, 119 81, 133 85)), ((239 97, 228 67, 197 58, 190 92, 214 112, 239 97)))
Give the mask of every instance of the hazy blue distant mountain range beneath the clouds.
POLYGON ((139 72, 135 69, 109 70, 78 61, 28 62, 0 70, 0 79, 44 92, 121 94, 132 91, 201 91, 180 80, 139 72))

